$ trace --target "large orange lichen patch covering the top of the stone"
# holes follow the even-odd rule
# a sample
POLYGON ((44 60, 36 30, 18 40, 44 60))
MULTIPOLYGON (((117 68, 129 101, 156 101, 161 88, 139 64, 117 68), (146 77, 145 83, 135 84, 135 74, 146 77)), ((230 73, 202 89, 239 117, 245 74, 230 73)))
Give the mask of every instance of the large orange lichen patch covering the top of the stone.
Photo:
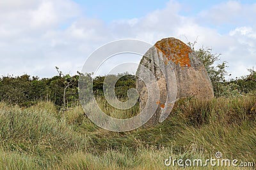
MULTIPOLYGON (((161 41, 157 41, 156 48, 160 50, 166 59, 172 60, 175 64, 179 64, 180 67, 190 67, 189 53, 192 52, 191 48, 175 38, 165 38, 161 41)), ((166 64, 166 62, 164 62, 166 64)))

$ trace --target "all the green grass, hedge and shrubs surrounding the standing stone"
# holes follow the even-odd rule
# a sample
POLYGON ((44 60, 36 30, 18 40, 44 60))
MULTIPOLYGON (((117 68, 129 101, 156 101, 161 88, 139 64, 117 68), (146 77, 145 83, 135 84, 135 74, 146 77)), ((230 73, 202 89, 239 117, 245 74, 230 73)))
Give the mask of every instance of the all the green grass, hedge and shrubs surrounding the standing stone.
MULTIPOLYGON (((100 129, 78 104, 79 76, 63 74, 39 79, 29 75, 0 80, 0 169, 184 169, 164 160, 215 158, 256 164, 256 73, 225 81, 226 64, 204 48, 200 54, 214 85, 210 101, 188 98, 175 103, 170 116, 154 127, 131 132, 100 129)), ((116 76, 116 75, 108 75, 116 76)), ((122 76, 116 96, 127 98, 135 77, 122 76)), ((110 106, 103 95, 106 76, 93 79, 93 92, 111 117, 137 115, 110 106)), ((256 166, 254 164, 254 166, 256 166)), ((205 169, 205 167, 195 167, 205 169)), ((209 165, 208 169, 212 169, 209 165)), ((233 169, 234 167, 224 167, 233 169)))

